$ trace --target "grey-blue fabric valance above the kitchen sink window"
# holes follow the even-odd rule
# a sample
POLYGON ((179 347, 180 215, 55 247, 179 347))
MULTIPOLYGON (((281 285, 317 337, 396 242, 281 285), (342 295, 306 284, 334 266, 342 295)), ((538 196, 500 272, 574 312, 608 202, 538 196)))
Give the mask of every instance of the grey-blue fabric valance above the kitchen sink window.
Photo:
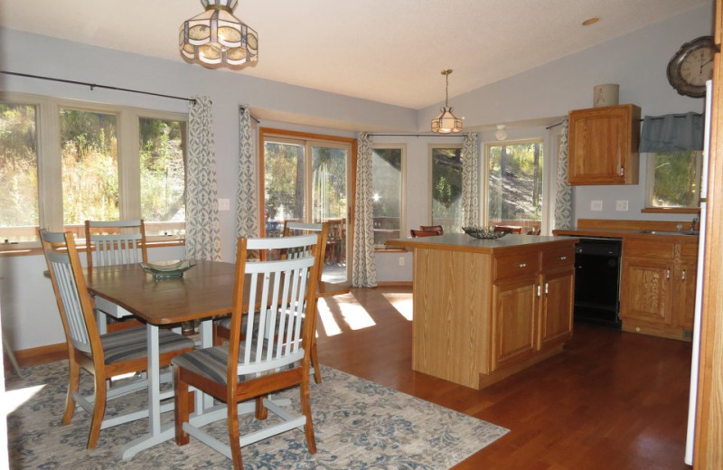
POLYGON ((698 113, 646 116, 640 152, 703 150, 703 116, 698 113))

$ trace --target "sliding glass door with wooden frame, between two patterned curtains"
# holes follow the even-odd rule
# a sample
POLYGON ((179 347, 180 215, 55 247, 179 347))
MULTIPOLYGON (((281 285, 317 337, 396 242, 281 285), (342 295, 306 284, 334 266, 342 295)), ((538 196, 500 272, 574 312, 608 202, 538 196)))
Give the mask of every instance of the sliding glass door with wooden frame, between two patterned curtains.
POLYGON ((351 154, 346 143, 263 136, 266 236, 280 236, 284 221, 329 221, 327 282, 348 274, 351 154))

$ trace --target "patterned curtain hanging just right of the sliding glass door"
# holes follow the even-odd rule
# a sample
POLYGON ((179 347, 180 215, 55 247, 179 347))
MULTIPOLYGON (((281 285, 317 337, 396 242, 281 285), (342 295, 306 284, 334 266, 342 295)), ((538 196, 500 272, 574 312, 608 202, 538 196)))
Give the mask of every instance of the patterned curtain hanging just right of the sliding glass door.
POLYGON ((356 164, 356 221, 354 223, 354 265, 352 287, 376 287, 374 261, 374 217, 371 210, 371 136, 359 136, 356 164))

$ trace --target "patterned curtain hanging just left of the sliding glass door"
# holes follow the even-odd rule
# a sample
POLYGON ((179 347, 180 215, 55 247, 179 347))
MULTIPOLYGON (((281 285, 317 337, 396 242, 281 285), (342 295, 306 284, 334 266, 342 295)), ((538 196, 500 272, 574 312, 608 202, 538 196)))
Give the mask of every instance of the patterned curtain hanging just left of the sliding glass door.
POLYGON ((236 237, 258 237, 256 159, 254 158, 251 112, 248 106, 239 108, 239 124, 239 186, 236 190, 236 237))

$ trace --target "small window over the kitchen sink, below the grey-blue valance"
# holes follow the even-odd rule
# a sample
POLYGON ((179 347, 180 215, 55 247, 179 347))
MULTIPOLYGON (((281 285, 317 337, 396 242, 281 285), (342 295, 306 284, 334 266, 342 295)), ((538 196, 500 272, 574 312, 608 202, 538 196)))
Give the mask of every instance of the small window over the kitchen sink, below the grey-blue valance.
POLYGON ((700 150, 647 154, 649 208, 693 208, 700 202, 700 150))

